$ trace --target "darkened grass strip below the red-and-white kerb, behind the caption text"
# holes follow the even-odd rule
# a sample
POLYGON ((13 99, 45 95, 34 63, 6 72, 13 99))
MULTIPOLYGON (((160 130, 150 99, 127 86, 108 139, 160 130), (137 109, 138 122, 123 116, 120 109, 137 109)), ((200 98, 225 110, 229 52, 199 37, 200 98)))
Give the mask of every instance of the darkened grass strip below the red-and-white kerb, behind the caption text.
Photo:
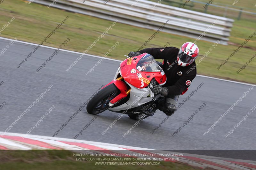
MULTIPOLYGON (((0 167, 1 170, 78 170, 78 169, 106 169, 106 170, 199 170, 199 167, 192 167, 184 163, 172 163, 160 161, 160 165, 95 165, 95 162, 129 162, 129 161, 76 161, 73 156, 74 152, 70 151, 1 151, 0 167)), ((77 157, 79 158, 79 157, 77 157)), ((81 157, 92 158, 92 157, 81 157)), ((94 157, 95 158, 95 157, 94 157)), ((111 158, 111 157, 97 157, 111 158)), ((113 158, 113 157, 112 157, 113 158)), ((133 161, 145 162, 145 161, 133 161)), ((159 162, 159 161, 147 161, 159 162)))

